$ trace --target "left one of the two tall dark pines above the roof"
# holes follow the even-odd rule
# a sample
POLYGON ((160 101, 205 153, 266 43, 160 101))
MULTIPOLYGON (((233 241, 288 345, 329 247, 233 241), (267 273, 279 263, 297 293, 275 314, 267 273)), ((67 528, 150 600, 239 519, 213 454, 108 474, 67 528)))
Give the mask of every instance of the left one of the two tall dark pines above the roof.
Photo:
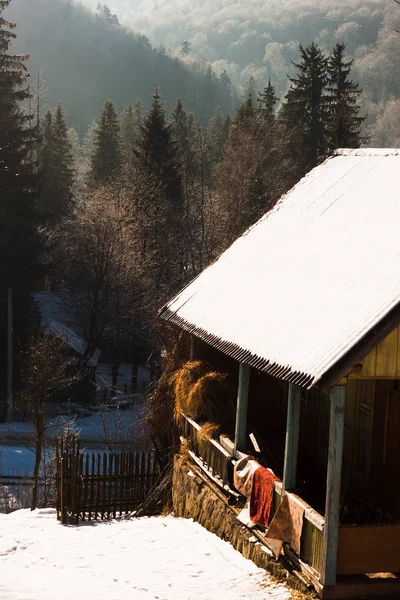
POLYGON ((293 63, 297 77, 289 77, 291 88, 285 96, 280 117, 297 131, 306 169, 314 167, 328 148, 327 140, 327 59, 312 43, 300 45, 301 62, 293 63))

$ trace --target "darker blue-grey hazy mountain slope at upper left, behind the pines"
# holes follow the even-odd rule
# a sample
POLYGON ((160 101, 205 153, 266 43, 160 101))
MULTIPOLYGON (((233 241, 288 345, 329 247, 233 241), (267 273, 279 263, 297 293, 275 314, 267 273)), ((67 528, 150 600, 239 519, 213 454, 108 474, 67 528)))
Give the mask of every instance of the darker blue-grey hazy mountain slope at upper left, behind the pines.
POLYGON ((105 100, 118 109, 137 100, 147 106, 156 86, 168 108, 180 97, 199 118, 217 105, 231 108, 230 90, 215 76, 188 68, 72 0, 12 0, 5 17, 19 21, 13 49, 31 54, 32 79, 37 64, 44 69, 48 105, 62 100, 81 135, 105 100))

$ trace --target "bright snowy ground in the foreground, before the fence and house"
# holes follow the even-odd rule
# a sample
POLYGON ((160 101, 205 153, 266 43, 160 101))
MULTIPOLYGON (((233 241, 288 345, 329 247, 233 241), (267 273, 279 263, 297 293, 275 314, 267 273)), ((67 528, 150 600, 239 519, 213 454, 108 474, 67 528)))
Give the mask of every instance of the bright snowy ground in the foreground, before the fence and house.
POLYGON ((0 515, 1 600, 286 600, 287 587, 186 519, 63 526, 0 515))

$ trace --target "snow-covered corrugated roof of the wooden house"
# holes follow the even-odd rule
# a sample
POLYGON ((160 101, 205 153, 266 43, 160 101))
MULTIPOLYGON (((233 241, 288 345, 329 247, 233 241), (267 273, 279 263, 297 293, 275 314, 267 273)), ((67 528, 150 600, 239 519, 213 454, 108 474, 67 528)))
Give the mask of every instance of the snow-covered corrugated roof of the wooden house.
POLYGON ((161 311, 304 387, 400 302, 400 150, 341 150, 161 311))

